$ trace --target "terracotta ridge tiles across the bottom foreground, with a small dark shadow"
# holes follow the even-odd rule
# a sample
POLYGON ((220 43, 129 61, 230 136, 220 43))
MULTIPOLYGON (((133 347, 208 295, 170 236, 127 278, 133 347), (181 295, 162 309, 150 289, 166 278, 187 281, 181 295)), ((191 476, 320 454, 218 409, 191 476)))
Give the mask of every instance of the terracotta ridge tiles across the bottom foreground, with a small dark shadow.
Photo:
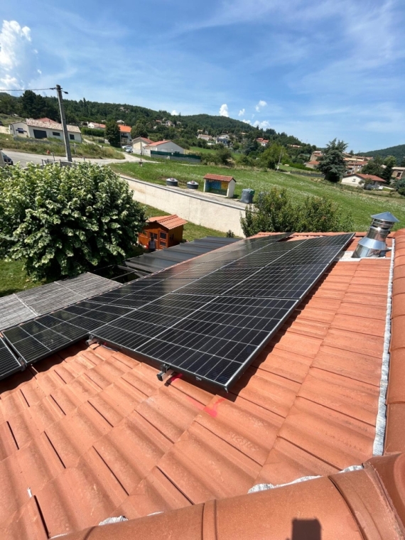
POLYGON ((86 529, 66 540, 399 540, 405 456, 174 512, 86 529), (396 473, 394 481, 392 476, 396 473), (402 477, 401 477, 402 476, 402 477), (393 508, 394 500, 394 508, 393 508))

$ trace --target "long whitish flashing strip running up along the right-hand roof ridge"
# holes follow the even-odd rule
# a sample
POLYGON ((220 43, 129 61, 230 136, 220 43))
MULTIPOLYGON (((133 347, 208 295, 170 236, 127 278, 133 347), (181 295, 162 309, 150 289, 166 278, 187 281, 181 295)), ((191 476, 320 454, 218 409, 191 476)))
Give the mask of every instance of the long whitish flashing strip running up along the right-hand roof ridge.
POLYGON ((384 351, 382 353, 381 381, 379 383, 378 414, 375 425, 375 438, 372 448, 373 455, 384 453, 385 428, 387 426, 387 387, 389 374, 389 345, 391 343, 391 314, 392 314, 392 279, 394 276, 395 240, 392 239, 391 264, 389 266, 389 281, 387 293, 387 316, 385 319, 384 351))

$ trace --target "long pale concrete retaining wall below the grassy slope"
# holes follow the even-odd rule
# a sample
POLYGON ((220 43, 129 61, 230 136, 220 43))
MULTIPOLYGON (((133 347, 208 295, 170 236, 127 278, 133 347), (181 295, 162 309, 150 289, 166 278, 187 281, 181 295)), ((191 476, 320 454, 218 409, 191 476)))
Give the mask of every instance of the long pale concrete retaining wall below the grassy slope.
POLYGON ((177 214, 196 225, 222 232, 231 229, 237 236, 244 236, 240 226, 240 217, 244 216, 244 205, 232 205, 229 202, 215 200, 215 196, 190 193, 181 188, 166 188, 163 185, 134 180, 126 176, 121 178, 124 178, 134 191, 134 199, 144 205, 177 214))

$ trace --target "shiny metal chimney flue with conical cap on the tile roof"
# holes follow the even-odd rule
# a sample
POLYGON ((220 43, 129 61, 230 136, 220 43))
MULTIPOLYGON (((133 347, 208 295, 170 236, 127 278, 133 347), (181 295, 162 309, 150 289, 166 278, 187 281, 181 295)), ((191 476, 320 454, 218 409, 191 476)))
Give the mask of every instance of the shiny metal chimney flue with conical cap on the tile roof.
POLYGON ((399 222, 391 212, 372 215, 372 224, 364 238, 357 244, 354 259, 363 257, 384 257, 387 252, 386 239, 395 223, 399 222))

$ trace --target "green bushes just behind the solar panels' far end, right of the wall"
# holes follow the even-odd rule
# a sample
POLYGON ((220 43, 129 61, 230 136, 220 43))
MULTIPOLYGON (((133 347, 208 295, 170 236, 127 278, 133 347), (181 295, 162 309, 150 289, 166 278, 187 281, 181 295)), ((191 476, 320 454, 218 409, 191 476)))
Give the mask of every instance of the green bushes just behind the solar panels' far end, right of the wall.
POLYGON ((241 218, 245 236, 258 232, 340 232, 353 228, 352 217, 333 200, 308 196, 294 203, 286 189, 259 193, 257 202, 241 218))

